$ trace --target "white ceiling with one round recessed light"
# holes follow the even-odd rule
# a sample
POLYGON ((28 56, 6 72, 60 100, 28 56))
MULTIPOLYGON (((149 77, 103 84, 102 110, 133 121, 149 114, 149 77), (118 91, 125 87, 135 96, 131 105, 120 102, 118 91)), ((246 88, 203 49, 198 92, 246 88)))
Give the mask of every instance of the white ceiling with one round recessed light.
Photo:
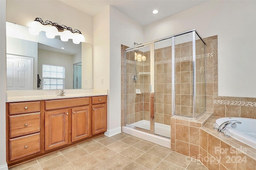
POLYGON ((209 0, 60 0, 82 12, 95 16, 110 5, 137 21, 148 25, 209 0), (158 10, 158 14, 152 14, 158 10))

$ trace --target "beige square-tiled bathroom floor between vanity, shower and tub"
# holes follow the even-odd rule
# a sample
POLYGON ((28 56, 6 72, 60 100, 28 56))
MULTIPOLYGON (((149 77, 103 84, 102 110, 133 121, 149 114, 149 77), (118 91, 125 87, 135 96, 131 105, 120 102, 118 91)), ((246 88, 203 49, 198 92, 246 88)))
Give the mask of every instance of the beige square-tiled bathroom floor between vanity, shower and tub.
POLYGON ((104 135, 9 170, 207 170, 198 160, 119 133, 104 135))

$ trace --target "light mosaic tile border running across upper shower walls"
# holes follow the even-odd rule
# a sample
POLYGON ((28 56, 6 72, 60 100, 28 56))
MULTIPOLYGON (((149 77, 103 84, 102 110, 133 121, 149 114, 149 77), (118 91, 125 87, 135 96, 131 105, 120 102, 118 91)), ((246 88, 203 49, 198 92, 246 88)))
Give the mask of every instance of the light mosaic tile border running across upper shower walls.
MULTIPOLYGON (((212 57, 213 56, 213 53, 207 53, 206 54, 206 57, 212 57)), ((204 58, 204 55, 196 55, 196 59, 201 59, 201 58, 204 58)), ((193 57, 190 56, 190 57, 182 57, 182 58, 177 58, 175 59, 176 62, 178 61, 188 61, 188 60, 192 60, 193 57)), ((128 64, 134 64, 134 61, 130 61, 130 60, 126 60, 126 63, 128 64)), ((169 60, 163 60, 163 61, 156 61, 155 62, 155 65, 156 64, 165 64, 165 63, 172 63, 172 59, 169 59, 169 60)), ((139 66, 149 66, 150 63, 140 63, 140 62, 137 62, 136 65, 139 65, 139 66)))

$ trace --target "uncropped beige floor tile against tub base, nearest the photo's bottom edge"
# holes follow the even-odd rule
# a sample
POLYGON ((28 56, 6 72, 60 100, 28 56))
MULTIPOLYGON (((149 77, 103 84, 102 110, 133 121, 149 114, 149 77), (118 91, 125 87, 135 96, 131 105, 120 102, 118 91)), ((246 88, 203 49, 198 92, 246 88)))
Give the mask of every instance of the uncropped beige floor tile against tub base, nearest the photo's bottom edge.
POLYGON ((168 154, 168 156, 166 156, 166 158, 164 158, 164 160, 186 168, 190 163, 191 158, 176 152, 171 152, 170 154, 168 154))

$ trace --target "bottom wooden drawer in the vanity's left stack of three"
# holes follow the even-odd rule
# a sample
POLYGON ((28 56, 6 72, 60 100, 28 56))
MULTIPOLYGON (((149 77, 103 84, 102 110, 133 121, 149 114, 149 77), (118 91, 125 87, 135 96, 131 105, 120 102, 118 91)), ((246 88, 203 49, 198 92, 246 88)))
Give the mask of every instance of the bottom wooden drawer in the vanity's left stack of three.
POLYGON ((10 160, 40 152, 40 133, 10 139, 10 160))

